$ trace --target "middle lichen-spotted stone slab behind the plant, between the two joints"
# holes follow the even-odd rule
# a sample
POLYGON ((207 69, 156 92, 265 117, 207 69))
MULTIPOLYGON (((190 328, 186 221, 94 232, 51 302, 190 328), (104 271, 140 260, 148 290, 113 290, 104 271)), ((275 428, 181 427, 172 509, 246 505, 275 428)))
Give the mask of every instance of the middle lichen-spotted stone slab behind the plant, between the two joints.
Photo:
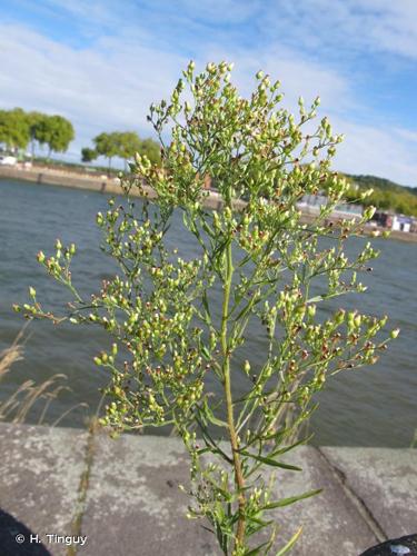
MULTIPOLYGON (((312 447, 288 457, 301 473, 279 470, 277 496, 324 488, 314 498, 275 512, 278 546, 302 526, 292 554, 357 556, 377 544, 367 524, 345 496, 331 469, 312 447)), ((188 459, 173 438, 123 436, 97 439, 82 535, 82 555, 208 556, 220 554, 198 522, 183 518, 188 498, 178 484, 188 481, 188 459)))

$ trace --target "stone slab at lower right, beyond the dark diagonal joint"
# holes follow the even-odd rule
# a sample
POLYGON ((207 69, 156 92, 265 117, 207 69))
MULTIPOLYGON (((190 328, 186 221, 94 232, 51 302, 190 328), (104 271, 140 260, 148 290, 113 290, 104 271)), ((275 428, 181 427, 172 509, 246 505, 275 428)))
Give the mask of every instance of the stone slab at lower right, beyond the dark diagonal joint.
POLYGON ((322 448, 387 538, 417 533, 417 450, 322 448))

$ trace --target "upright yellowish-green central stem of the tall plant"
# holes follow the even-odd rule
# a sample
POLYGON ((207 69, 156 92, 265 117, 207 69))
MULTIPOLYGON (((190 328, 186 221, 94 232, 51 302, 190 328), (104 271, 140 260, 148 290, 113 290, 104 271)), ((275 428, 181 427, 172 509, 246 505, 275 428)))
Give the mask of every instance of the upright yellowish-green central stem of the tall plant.
POLYGON ((234 467, 235 467, 235 484, 239 490, 239 496, 238 496, 239 519, 236 533, 236 547, 242 547, 245 544, 245 506, 246 506, 246 497, 244 492, 245 480, 241 469, 240 457, 238 454, 239 446, 235 428, 234 404, 232 404, 231 384, 230 384, 230 351, 227 341, 227 322, 229 314, 231 278, 234 275, 234 265, 231 259, 231 240, 227 245, 225 258, 226 258, 226 279, 225 279, 225 296, 224 296, 222 317, 221 317, 221 350, 224 356, 222 375, 224 375, 224 388, 225 388, 226 406, 227 406, 227 423, 229 428, 230 446, 231 446, 234 467))

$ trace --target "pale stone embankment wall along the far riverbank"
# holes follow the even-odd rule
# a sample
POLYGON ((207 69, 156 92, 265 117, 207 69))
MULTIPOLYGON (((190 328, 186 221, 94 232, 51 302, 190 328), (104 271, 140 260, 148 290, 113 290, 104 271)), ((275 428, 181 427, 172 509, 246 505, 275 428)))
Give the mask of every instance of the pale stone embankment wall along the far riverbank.
MULTIPOLYGON (((120 187, 120 179, 108 176, 89 176, 87 172, 72 172, 68 170, 50 169, 47 167, 2 167, 0 166, 0 180, 13 179, 20 181, 28 181, 32 183, 42 183, 47 186, 69 187, 72 189, 83 189, 96 191, 99 193, 123 195, 120 187)), ((143 190, 149 199, 155 198, 155 191, 143 186, 143 190)), ((131 193, 133 197, 140 197, 137 192, 131 193)), ((205 206, 210 209, 218 210, 221 208, 222 200, 216 191, 210 191, 209 197, 205 200, 205 206)), ((245 201, 236 202, 238 208, 245 206, 245 201)), ((304 212, 305 221, 311 219, 311 214, 304 212)), ((373 236, 374 231, 385 231, 384 228, 367 228, 365 232, 373 236)), ((400 241, 417 242, 417 234, 405 232, 398 230, 390 230, 389 239, 398 239, 400 241)))

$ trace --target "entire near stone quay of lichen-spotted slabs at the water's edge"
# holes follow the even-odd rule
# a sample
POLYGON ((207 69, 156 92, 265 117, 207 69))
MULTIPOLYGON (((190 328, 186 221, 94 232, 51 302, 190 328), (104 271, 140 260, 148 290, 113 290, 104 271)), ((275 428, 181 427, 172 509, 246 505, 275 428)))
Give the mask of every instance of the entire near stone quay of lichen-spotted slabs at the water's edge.
MULTIPOLYGON (((0 424, 0 449, 2 556, 220 554, 206 524, 185 518, 177 438, 0 424)), ((291 554, 358 556, 416 533, 417 450, 305 446, 286 460, 302 471, 279 469, 274 499, 322 488, 271 516, 280 546, 302 526, 291 554)))

